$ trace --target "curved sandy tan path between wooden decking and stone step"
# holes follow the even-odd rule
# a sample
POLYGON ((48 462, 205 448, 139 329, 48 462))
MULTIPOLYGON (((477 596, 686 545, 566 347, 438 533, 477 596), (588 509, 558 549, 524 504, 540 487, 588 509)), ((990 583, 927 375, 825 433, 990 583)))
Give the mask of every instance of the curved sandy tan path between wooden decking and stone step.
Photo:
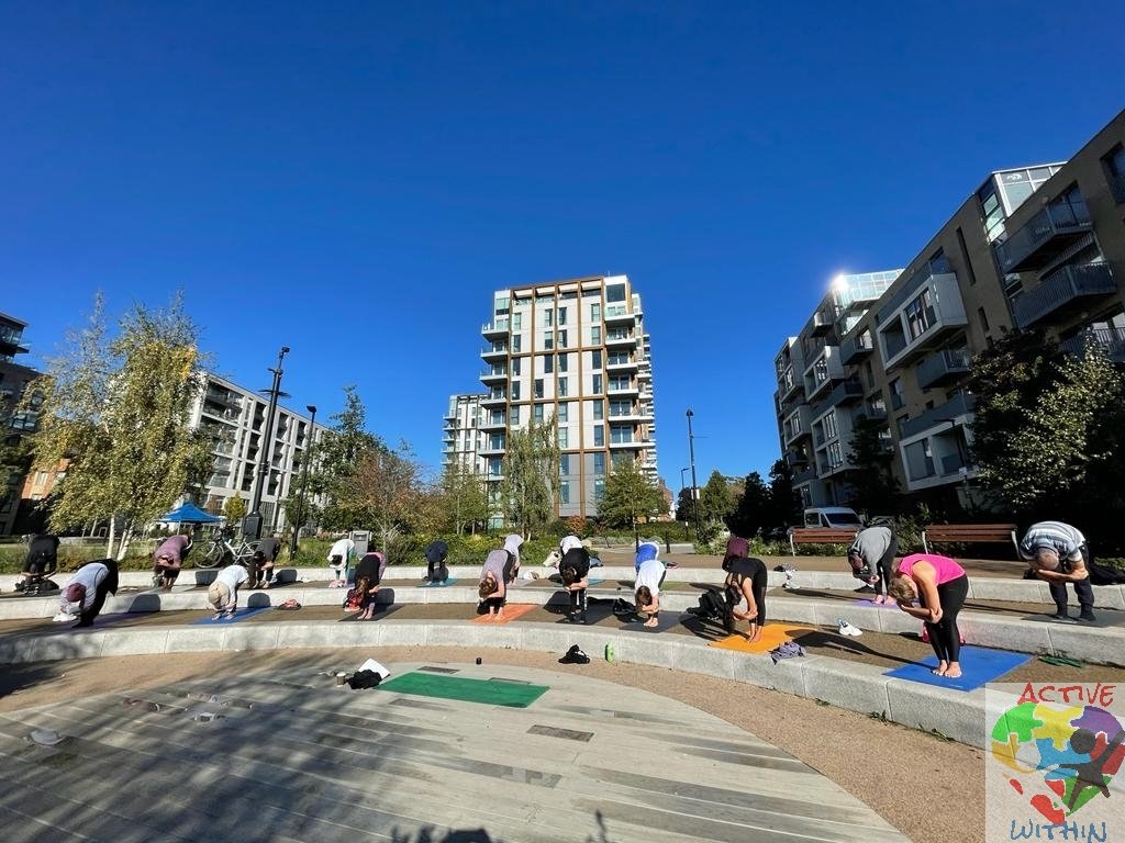
POLYGON ((389 664, 471 663, 480 656, 485 663, 582 672, 660 694, 709 711, 792 753, 870 805, 916 843, 984 840, 984 762, 980 750, 814 700, 723 679, 685 677, 663 668, 601 660, 561 665, 556 655, 548 653, 458 647, 90 659, 6 669, 0 676, 0 711, 228 671, 276 671, 296 665, 353 669, 368 655, 389 664), (922 781, 928 785, 925 789, 920 787, 922 781), (911 785, 903 789, 903 782, 911 785))

